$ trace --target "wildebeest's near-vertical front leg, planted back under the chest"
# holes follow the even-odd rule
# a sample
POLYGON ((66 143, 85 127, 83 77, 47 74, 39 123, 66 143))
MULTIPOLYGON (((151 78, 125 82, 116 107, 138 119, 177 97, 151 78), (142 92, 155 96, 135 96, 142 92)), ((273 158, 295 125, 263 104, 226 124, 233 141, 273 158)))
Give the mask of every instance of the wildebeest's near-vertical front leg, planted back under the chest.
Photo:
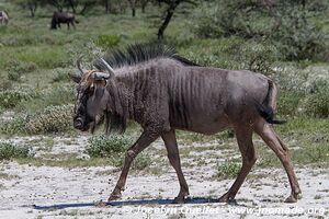
POLYGON ((173 166, 180 182, 180 193, 174 200, 175 203, 184 203, 185 197, 189 195, 189 187, 182 172, 174 130, 171 129, 170 131, 162 134, 161 137, 167 148, 169 162, 173 166))

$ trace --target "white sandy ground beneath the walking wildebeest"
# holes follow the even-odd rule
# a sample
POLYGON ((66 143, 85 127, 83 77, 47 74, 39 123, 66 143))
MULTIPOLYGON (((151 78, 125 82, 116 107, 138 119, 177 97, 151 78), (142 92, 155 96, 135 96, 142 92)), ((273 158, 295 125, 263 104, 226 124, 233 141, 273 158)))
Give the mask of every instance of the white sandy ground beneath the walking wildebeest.
MULTIPOLYGON (((18 142, 22 139, 11 140, 18 142)), ((29 141, 31 139, 23 140, 29 141)), ((54 140, 54 147, 48 153, 81 152, 83 151, 87 137, 82 137, 80 140, 72 140, 67 147, 64 147, 66 139, 55 138, 54 140)), ((201 146, 195 146, 194 143, 194 147, 201 146)), ((155 150, 161 148, 161 142, 158 141, 152 148, 155 150)), ((186 162, 190 162, 188 158, 182 160, 182 163, 186 162)), ((212 177, 215 173, 214 163, 205 163, 197 168, 183 166, 191 196, 219 197, 229 188, 232 180, 214 180, 212 177)), ((157 163, 157 165, 161 165, 161 163, 157 163)), ((131 172, 122 199, 173 198, 179 192, 178 180, 172 168, 166 168, 164 170, 164 174, 161 175, 131 172)), ((290 194, 288 181, 283 169, 256 169, 237 195, 239 206, 224 204, 148 205, 106 208, 79 207, 58 210, 35 210, 32 205, 47 206, 105 200, 114 188, 120 174, 118 170, 112 166, 37 168, 26 164, 20 165, 15 162, 2 162, 0 163, 0 173, 9 175, 0 177, 1 219, 329 218, 329 170, 320 166, 296 168, 303 191, 303 197, 297 204, 283 203, 290 194), (163 212, 164 210, 167 210, 167 214, 163 212), (280 212, 277 214, 277 211, 280 212)))

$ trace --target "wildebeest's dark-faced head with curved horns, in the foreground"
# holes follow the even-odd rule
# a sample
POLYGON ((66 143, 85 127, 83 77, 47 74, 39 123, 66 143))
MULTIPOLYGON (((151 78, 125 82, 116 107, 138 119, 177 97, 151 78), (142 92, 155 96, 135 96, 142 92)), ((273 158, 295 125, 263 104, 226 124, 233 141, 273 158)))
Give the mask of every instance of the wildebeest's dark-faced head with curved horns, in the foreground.
POLYGON ((83 70, 81 68, 81 58, 77 60, 77 67, 80 74, 71 74, 71 79, 78 83, 77 100, 75 105, 73 126, 77 129, 86 131, 100 124, 107 110, 109 91, 106 90, 107 81, 114 78, 114 71, 110 65, 100 59, 105 72, 99 70, 83 70))

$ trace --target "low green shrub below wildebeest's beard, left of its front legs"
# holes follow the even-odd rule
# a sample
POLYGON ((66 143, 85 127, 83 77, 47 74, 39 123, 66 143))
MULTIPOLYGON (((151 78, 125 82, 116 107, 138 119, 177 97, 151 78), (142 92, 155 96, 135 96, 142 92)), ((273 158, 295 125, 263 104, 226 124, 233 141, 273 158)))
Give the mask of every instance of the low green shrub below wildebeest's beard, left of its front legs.
POLYGON ((133 145, 133 139, 123 135, 92 136, 88 140, 86 152, 91 158, 120 158, 126 149, 133 145))

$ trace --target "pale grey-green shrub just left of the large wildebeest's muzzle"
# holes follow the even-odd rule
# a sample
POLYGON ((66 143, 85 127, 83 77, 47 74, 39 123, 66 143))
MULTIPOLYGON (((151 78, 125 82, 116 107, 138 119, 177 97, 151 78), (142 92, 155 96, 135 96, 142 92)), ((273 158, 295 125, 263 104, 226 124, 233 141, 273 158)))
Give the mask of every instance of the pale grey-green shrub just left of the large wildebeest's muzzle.
POLYGON ((25 127, 30 134, 58 132, 71 129, 72 105, 48 106, 34 114, 25 127))

